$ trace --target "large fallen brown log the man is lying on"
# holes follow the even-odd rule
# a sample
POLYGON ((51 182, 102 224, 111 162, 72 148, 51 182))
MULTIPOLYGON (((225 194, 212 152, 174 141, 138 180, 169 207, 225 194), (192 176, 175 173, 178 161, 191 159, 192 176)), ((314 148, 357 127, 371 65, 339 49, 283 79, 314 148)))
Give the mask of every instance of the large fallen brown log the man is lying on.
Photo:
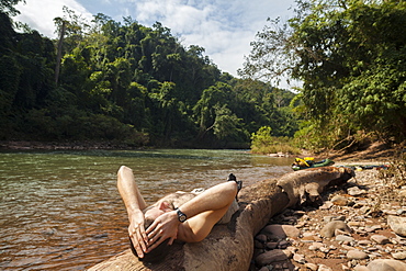
POLYGON ((324 167, 291 172, 280 180, 259 181, 239 192, 240 208, 232 222, 216 225, 203 241, 173 244, 160 263, 138 261, 128 249, 89 270, 248 270, 253 237, 273 215, 306 201, 315 202, 326 188, 341 185, 353 176, 349 168, 324 167))

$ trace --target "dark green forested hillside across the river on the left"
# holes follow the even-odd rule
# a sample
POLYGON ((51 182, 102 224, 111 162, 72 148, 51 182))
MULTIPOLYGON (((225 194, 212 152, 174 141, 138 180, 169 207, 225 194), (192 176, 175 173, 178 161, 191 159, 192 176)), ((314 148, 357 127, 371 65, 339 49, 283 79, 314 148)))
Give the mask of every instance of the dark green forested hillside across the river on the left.
POLYGON ((297 131, 293 93, 222 72, 160 23, 65 12, 52 41, 0 10, 0 139, 247 147, 261 126, 297 131))

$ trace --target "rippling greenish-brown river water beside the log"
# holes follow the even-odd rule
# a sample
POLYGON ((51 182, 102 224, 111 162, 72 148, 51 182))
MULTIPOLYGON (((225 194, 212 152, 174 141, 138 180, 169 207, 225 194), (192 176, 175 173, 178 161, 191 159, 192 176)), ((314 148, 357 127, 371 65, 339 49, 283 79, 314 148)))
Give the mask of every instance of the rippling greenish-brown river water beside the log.
POLYGON ((116 171, 131 167, 147 203, 234 173, 249 185, 292 158, 244 150, 0 153, 0 270, 84 270, 128 248, 116 171))

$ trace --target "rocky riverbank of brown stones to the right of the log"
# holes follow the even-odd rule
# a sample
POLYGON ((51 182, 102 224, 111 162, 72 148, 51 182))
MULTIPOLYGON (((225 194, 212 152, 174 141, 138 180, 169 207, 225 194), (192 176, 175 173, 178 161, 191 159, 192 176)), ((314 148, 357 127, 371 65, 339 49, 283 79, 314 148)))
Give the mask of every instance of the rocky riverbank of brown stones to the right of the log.
POLYGON ((250 271, 405 271, 406 182, 358 171, 320 206, 286 210, 255 238, 250 271))

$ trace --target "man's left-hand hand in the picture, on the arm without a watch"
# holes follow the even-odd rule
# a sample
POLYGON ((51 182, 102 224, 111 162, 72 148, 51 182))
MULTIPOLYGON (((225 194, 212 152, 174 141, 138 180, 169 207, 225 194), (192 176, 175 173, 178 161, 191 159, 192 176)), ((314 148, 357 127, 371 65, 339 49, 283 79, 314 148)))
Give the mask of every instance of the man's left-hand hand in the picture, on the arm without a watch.
POLYGON ((129 218, 129 226, 128 226, 128 234, 129 238, 133 241, 133 246, 135 251, 139 258, 144 257, 144 252, 147 251, 148 246, 148 236, 144 228, 144 214, 142 211, 136 211, 128 215, 129 218))

